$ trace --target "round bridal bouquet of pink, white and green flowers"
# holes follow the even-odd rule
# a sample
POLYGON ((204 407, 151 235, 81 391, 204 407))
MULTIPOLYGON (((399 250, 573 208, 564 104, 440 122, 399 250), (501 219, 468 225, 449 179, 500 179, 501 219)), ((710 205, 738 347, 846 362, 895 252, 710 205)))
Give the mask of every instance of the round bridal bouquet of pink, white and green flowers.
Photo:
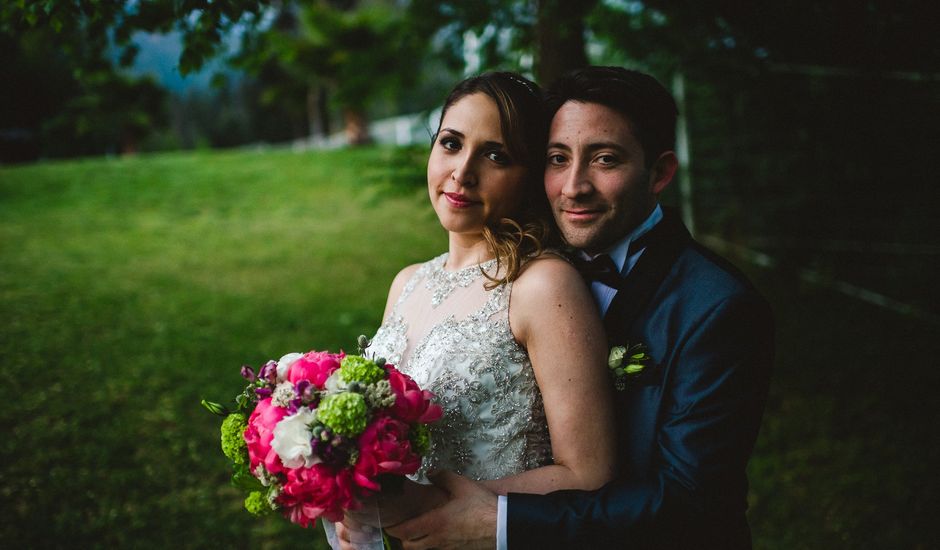
POLYGON ((417 471, 441 408, 393 365, 364 357, 367 345, 361 337, 360 355, 290 353, 257 373, 244 366, 234 411, 203 400, 225 417, 222 452, 249 512, 280 511, 303 527, 340 521, 385 480, 417 471))

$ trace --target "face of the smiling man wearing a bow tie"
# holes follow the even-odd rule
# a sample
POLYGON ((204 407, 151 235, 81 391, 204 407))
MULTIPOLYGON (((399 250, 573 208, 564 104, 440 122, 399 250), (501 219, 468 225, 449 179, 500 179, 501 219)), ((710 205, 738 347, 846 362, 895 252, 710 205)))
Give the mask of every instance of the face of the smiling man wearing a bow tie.
POLYGON ((597 103, 569 101, 552 119, 545 192, 574 247, 600 252, 656 204, 643 147, 627 119, 597 103))

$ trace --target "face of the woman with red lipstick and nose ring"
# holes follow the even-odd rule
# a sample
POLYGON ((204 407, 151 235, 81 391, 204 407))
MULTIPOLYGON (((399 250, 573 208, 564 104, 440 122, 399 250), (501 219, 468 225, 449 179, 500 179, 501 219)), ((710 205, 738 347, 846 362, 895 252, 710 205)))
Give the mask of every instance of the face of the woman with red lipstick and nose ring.
POLYGON ((499 110, 488 95, 447 109, 428 159, 428 193, 444 229, 482 233, 519 206, 526 168, 510 157, 499 110))

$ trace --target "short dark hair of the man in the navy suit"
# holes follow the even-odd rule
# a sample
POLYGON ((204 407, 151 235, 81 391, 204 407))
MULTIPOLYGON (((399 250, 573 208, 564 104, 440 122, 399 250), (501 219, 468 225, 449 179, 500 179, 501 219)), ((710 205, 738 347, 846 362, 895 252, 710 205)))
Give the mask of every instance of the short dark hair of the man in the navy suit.
POLYGON ((675 149, 676 102, 652 76, 623 67, 585 67, 571 71, 545 90, 548 120, 568 101, 598 103, 617 111, 643 146, 646 167, 675 149))

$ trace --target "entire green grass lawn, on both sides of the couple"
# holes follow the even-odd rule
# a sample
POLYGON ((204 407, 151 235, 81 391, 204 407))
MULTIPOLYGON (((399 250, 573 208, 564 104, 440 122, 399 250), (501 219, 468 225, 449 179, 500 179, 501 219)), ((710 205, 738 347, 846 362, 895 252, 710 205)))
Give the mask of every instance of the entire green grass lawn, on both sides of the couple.
MULTIPOLYGON (((0 545, 317 547, 228 485, 242 364, 351 349, 442 251, 421 153, 203 152, 0 168, 0 545)), ((753 271, 779 324, 757 548, 936 547, 936 329, 753 271)))

